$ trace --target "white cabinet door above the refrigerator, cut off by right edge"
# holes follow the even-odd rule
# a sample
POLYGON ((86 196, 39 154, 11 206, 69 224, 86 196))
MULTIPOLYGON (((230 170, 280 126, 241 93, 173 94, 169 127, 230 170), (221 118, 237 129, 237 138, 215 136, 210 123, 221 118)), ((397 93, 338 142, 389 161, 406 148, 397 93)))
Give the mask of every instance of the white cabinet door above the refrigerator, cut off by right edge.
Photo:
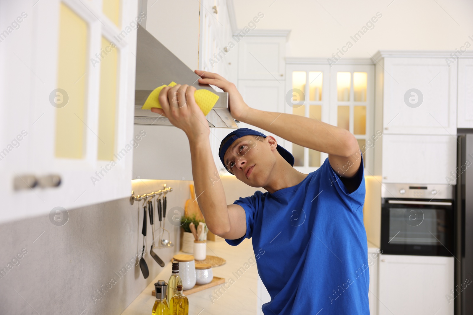
POLYGON ((457 111, 457 127, 473 128, 473 59, 458 60, 457 111))

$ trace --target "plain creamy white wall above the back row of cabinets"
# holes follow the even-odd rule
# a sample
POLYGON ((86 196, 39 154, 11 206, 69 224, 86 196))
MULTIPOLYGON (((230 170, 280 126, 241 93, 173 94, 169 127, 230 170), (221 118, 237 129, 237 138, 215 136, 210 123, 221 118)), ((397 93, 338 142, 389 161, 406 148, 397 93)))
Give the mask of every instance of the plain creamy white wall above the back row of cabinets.
MULTIPOLYGON (((473 44, 471 0, 235 0, 236 24, 243 28, 261 11, 257 29, 290 29, 289 57, 328 58, 347 41, 343 58, 369 58, 378 50, 455 50, 473 44), (389 6, 388 6, 389 5, 389 6), (354 43, 377 12, 374 28, 354 43), (369 53, 369 54, 368 54, 369 53)), ((473 47, 470 48, 473 51, 473 47)))

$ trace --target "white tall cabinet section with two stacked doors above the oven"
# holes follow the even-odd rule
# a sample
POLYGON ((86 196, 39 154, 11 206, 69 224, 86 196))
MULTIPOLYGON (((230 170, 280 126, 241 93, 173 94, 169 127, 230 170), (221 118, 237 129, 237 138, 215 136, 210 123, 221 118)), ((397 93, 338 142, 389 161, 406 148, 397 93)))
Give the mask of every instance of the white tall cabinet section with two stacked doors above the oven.
POLYGON ((379 51, 374 175, 383 182, 456 184, 457 67, 447 52, 379 51))

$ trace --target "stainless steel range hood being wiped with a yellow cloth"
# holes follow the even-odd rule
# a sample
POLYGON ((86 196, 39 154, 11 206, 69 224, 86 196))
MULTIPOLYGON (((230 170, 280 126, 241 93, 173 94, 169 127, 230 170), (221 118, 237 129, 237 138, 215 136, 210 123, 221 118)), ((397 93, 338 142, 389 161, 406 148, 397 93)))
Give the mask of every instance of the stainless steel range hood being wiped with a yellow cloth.
POLYGON ((219 95, 219 100, 206 116, 210 127, 238 128, 235 119, 230 115, 228 93, 216 92, 210 85, 199 84, 198 78, 199 76, 192 69, 187 67, 153 35, 149 34, 142 26, 138 26, 135 125, 172 126, 166 117, 159 117, 160 115, 149 110, 142 110, 141 106, 155 88, 174 81, 178 84, 193 85, 197 89, 210 90, 219 95))

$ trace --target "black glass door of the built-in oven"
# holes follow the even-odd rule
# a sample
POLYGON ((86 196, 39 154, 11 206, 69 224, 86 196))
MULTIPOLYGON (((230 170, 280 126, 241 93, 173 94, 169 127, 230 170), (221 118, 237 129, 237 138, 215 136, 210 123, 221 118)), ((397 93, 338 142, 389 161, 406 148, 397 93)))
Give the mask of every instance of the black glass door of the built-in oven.
MULTIPOLYGON (((385 254, 439 255, 453 253, 453 206, 383 202, 381 249, 385 254)), ((442 202, 440 202, 442 203, 442 202)))

